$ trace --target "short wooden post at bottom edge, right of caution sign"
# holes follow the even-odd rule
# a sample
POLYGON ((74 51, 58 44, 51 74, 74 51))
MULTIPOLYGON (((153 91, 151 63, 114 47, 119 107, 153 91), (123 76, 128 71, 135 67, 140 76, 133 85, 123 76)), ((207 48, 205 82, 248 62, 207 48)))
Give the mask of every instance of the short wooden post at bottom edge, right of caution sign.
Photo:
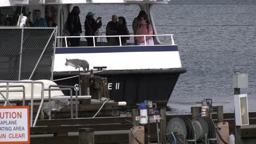
POLYGON ((79 129, 79 144, 94 144, 94 128, 79 129))

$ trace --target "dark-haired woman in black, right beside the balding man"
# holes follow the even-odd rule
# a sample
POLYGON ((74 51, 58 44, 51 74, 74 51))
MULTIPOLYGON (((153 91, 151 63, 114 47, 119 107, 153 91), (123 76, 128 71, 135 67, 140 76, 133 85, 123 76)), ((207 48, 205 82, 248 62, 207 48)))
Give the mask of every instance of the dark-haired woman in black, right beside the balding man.
MULTIPOLYGON (((117 35, 129 35, 129 31, 126 26, 126 20, 123 16, 118 17, 117 35)), ((127 45, 127 39, 130 39, 130 37, 121 37, 121 44, 127 45)), ((119 37, 117 38, 117 42, 120 44, 119 37)))

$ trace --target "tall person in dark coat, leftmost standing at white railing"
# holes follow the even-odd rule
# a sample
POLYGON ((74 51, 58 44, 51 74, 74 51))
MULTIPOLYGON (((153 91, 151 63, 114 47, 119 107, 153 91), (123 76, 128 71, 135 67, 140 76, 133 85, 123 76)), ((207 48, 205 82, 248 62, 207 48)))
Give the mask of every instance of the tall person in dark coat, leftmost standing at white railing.
MULTIPOLYGON (((67 29, 70 33, 70 36, 80 36, 82 33, 82 26, 80 22, 80 9, 78 6, 75 6, 71 13, 68 14, 67 18, 67 29)), ((70 38, 71 46, 79 46, 80 38, 70 38)))

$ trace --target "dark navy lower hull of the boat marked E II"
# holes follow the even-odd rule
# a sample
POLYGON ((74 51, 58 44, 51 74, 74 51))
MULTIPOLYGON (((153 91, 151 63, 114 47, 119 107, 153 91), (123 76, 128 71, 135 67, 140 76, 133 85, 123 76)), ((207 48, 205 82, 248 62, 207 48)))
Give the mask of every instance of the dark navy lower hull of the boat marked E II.
MULTIPOLYGON (((126 101, 127 105, 141 103, 144 100, 166 103, 184 68, 176 69, 139 69, 106 70, 95 73, 107 77, 109 97, 114 101, 126 101)), ((77 72, 55 73, 55 79, 77 75, 77 72)), ((58 85, 75 85, 78 77, 65 81, 56 81, 58 85)))

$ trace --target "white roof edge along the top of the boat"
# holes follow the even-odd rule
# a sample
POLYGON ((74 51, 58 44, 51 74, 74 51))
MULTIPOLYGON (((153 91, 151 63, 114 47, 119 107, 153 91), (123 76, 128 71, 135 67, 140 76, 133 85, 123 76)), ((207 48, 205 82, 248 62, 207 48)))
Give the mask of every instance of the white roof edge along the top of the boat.
POLYGON ((167 4, 170 0, 1 0, 0 7, 9 7, 21 4, 78 4, 78 3, 96 3, 96 4, 167 4))

